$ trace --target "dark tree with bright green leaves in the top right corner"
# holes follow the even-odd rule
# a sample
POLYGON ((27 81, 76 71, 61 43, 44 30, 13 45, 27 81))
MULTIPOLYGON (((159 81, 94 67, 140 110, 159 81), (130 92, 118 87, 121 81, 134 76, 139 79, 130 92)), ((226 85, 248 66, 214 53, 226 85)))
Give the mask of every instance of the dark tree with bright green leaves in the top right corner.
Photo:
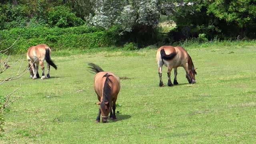
POLYGON ((208 39, 241 37, 255 38, 255 0, 177 0, 173 20, 177 31, 208 39))

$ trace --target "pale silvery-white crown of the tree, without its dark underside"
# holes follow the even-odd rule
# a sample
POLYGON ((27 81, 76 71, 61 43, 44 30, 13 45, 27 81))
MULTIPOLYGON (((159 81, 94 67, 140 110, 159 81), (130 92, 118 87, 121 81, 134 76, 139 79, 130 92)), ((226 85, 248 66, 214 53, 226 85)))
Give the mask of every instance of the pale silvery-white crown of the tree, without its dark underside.
POLYGON ((105 29, 114 25, 127 32, 136 26, 154 28, 160 19, 160 0, 95 0, 94 9, 89 23, 105 29))

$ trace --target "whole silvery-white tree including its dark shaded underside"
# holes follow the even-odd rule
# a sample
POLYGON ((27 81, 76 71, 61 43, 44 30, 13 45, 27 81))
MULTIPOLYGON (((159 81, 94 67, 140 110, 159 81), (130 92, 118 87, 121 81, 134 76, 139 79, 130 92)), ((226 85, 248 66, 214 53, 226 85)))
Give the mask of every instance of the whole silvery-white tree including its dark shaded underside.
MULTIPOLYGON (((155 28, 160 19, 160 0, 95 0, 94 14, 88 23, 109 29, 118 26, 142 46, 156 41, 155 28)), ((127 35, 126 35, 127 36, 127 35)))

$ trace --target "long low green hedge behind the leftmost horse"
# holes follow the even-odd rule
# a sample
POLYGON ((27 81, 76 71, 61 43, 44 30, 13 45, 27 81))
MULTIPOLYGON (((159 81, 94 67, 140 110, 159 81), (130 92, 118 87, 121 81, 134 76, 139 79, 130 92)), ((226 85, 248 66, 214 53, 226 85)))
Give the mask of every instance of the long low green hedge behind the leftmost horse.
POLYGON ((0 31, 0 50, 8 48, 20 36, 10 49, 12 54, 26 52, 30 46, 47 44, 53 50, 90 49, 110 46, 116 42, 116 34, 100 28, 79 26, 72 28, 14 28, 0 31))

